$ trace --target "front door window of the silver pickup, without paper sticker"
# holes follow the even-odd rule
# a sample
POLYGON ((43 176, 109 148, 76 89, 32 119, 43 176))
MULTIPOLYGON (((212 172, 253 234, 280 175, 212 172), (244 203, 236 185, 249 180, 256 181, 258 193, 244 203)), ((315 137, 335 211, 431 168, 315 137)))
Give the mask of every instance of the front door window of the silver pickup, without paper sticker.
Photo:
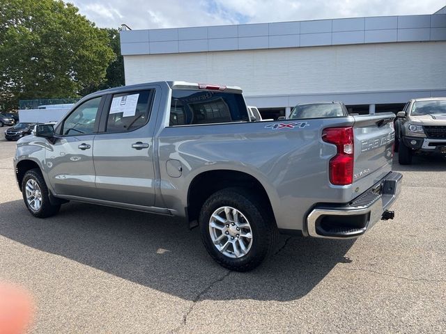
POLYGON ((76 136, 79 134, 93 134, 98 115, 100 100, 95 97, 81 104, 63 122, 61 134, 63 136, 76 136))

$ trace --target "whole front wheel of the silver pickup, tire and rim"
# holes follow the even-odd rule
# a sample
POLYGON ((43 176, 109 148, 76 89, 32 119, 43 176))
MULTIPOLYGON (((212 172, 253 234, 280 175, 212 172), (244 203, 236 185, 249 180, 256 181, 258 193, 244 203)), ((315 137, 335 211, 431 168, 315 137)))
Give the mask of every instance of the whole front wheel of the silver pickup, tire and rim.
POLYGON ((28 170, 22 180, 23 200, 29 212, 37 218, 54 216, 61 205, 52 205, 49 201, 49 190, 38 169, 28 170))

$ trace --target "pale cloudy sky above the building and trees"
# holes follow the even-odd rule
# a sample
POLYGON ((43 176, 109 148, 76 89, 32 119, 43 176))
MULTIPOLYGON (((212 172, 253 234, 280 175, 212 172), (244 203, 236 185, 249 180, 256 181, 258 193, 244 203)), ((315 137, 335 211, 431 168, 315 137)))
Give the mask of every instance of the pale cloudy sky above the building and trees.
POLYGON ((216 26, 383 15, 433 14, 445 0, 66 0, 100 27, 216 26))

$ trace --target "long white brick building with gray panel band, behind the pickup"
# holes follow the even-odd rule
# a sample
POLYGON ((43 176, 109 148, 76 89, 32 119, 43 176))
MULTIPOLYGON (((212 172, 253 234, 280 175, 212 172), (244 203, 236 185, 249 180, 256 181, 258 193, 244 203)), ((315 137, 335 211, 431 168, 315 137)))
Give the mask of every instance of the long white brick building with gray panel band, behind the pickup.
POLYGON ((361 113, 398 111, 413 97, 446 96, 445 8, 433 15, 124 30, 125 83, 240 86, 247 103, 268 117, 331 100, 361 113))

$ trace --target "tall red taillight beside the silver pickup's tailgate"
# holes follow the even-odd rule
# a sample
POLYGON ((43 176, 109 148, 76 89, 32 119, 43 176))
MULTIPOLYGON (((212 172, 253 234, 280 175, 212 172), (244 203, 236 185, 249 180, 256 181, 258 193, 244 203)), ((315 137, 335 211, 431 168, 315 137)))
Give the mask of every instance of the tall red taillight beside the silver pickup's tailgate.
POLYGON ((355 159, 353 127, 324 129, 322 140, 337 147, 337 154, 330 159, 330 182, 337 186, 352 184, 355 159))

